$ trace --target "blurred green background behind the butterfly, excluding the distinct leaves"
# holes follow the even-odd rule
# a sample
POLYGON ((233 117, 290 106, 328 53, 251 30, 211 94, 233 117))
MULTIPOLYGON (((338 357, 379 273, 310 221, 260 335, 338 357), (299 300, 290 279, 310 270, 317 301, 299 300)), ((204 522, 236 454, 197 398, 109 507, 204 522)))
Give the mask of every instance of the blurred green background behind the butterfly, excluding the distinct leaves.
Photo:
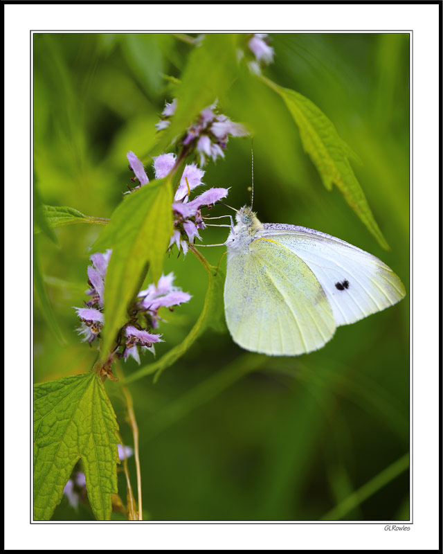
MULTIPOLYGON (((227 331, 207 331, 159 382, 148 376, 130 385, 145 518, 408 519, 408 471, 370 485, 368 498, 345 513, 337 508, 409 449, 408 41, 404 34, 271 35, 275 62, 265 70, 316 103, 358 154, 361 163, 352 165, 390 251, 335 187, 324 188, 281 98, 256 80, 239 80, 220 106, 253 129, 260 220, 309 226, 370 251, 400 276, 407 294, 389 310, 338 328, 309 355, 255 355, 227 331)), ((45 204, 111 215, 130 184, 126 153, 150 165, 154 125, 172 100, 165 75, 179 78, 192 48, 174 35, 34 35, 35 184, 45 204)), ((229 204, 249 202, 249 139, 230 139, 226 159, 205 169, 208 186, 230 187, 229 204)), ((211 215, 226 212, 215 206, 211 215)), ((87 249, 100 230, 55 229, 60 247, 39 239, 66 344, 55 340, 36 301, 35 382, 84 373, 96 358, 80 343, 72 306, 86 298, 87 249)), ((207 229, 204 242, 224 242, 227 231, 207 229)), ((214 264, 223 251, 202 249, 214 264)), ((157 356, 186 337, 207 284, 192 254, 183 260, 174 251, 164 269, 174 271, 192 301, 165 315, 157 356)), ((143 361, 152 361, 150 354, 143 361)), ((125 375, 137 367, 129 361, 125 375)), ((123 440, 133 445, 119 385, 106 388, 123 440)), ((129 468, 135 488, 133 458, 129 468)), ((123 474, 119 492, 125 499, 123 474)), ((75 512, 63 499, 53 519, 93 516, 87 505, 75 512)))

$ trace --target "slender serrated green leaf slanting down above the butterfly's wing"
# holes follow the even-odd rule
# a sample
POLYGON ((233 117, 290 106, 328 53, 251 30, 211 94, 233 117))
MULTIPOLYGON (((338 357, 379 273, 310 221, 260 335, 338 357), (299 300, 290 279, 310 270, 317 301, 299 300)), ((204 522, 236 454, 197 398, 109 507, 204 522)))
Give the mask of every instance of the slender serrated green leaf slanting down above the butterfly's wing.
POLYGON ((263 76, 260 79, 284 100, 300 130, 303 148, 316 166, 327 190, 332 190, 332 184, 335 184, 381 247, 389 249, 372 215, 365 193, 352 171, 348 160, 352 156, 352 150, 338 136, 332 122, 311 100, 300 93, 284 89, 263 76))

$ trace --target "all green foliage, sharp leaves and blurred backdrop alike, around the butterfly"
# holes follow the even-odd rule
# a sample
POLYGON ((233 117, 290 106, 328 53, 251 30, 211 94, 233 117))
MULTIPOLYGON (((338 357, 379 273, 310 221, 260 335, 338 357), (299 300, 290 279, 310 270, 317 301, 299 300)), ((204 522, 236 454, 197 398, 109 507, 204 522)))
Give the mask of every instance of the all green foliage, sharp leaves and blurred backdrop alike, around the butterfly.
MULTIPOLYGON (((408 288, 407 35, 271 35, 275 62, 262 75, 248 70, 246 35, 34 37, 35 519, 80 517, 66 501, 57 506, 79 458, 94 517, 111 517, 117 484, 126 498, 114 416, 132 444, 124 384, 154 520, 408 517, 408 302, 340 328, 309 355, 245 354, 220 324, 221 249, 204 249, 206 271, 193 251, 184 260, 166 253, 183 164, 172 182, 151 179, 122 196, 126 152, 150 163, 173 151, 217 99, 253 133, 260 220, 352 242, 408 288), (174 97, 177 112, 156 134, 174 97), (145 276, 152 283, 162 268, 174 271, 192 301, 176 312, 161 308, 169 324, 158 358, 141 368, 128 361, 125 378, 105 391, 100 372, 85 373, 97 352, 78 342, 72 306, 87 288, 88 256, 107 248, 99 366, 145 276), (153 386, 146 376, 165 368, 153 386)), ((205 167, 204 182, 230 187, 235 207, 248 202, 249 151, 248 139, 230 139, 225 159, 205 167)), ((215 206, 210 215, 226 213, 215 206)), ((206 229, 204 244, 224 242, 226 231, 206 229)), ((132 476, 132 461, 128 467, 132 476)))

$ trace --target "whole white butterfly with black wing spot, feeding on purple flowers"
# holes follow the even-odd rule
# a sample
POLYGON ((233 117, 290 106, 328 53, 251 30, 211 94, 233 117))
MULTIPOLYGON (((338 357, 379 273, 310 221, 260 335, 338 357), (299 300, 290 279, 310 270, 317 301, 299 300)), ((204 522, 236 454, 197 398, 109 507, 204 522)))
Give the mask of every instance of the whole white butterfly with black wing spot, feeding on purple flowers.
POLYGON ((317 350, 347 325, 405 296, 398 276, 344 240, 296 225, 260 223, 244 206, 226 246, 225 315, 234 341, 253 352, 317 350))

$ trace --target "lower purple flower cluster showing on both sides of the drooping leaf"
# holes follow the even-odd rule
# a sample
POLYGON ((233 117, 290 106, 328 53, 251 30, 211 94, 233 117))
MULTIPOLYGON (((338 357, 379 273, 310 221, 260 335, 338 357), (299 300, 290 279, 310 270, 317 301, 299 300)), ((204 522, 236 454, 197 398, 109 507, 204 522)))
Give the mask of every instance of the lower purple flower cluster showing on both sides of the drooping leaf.
MULTIPOLYGON (((104 254, 95 253, 91 256, 93 265, 88 267, 88 283, 91 288, 87 291, 91 299, 84 303, 84 307, 74 307, 81 322, 78 332, 83 335, 83 341, 89 343, 98 336, 105 323, 102 310, 105 277, 110 257, 111 250, 107 250, 104 254)), ((173 306, 188 302, 191 298, 187 292, 174 287, 172 285, 173 281, 174 274, 162 275, 157 285, 152 283, 147 289, 138 294, 132 311, 132 319, 123 327, 123 334, 119 334, 120 343, 118 348, 123 348, 118 354, 119 357, 123 357, 125 360, 128 357, 133 357, 140 364, 139 349, 141 351, 150 350, 154 353, 154 343, 161 342, 161 335, 151 333, 147 328, 156 329, 159 327, 159 320, 161 319, 159 308, 163 306, 172 310, 173 306), (143 328, 141 322, 147 328, 143 328)))

